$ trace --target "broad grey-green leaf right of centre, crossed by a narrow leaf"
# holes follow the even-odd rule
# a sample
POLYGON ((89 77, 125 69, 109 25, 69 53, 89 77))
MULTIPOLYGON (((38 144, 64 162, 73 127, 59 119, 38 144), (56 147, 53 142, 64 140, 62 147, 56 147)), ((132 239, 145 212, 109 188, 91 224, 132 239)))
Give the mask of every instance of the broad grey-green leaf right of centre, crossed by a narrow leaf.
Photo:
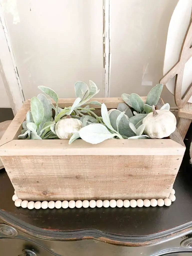
MULTIPOLYGON (((121 114, 121 111, 116 109, 111 109, 109 111, 110 123, 114 130, 117 130, 116 120, 120 114, 121 114)), ((135 135, 135 133, 131 130, 129 126, 129 120, 127 119, 126 115, 122 116, 119 122, 118 128, 119 128, 119 134, 121 134, 122 136, 130 137, 135 135)))

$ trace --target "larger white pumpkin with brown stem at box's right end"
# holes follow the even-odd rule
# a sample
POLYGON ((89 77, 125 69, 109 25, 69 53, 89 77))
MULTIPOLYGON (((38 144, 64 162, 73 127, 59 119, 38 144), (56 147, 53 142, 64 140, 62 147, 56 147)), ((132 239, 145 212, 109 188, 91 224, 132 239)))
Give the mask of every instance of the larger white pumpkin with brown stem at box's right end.
POLYGON ((168 137, 176 129, 176 117, 167 109, 155 110, 152 106, 153 112, 150 112, 144 119, 145 125, 144 133, 152 139, 162 139, 168 137))

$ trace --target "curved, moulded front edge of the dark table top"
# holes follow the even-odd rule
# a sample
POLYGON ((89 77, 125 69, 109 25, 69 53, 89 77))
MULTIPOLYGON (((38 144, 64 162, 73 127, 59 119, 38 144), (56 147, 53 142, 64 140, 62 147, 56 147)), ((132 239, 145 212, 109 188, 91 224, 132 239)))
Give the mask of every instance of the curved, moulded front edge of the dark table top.
POLYGON ((80 241, 92 239, 118 246, 130 247, 156 245, 192 233, 192 221, 172 229, 145 236, 116 235, 97 229, 83 229, 76 231, 42 229, 23 221, 18 222, 17 218, 9 216, 8 214, 5 215, 0 210, 0 222, 1 221, 14 227, 18 231, 38 239, 56 241, 80 241))

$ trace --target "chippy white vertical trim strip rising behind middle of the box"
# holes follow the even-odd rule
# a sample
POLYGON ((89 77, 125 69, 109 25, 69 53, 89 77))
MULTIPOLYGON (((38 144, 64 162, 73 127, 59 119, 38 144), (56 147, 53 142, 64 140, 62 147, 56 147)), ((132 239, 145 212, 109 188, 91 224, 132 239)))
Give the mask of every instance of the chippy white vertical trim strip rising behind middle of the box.
POLYGON ((110 31, 110 0, 103 0, 103 87, 105 97, 110 97, 111 77, 111 31, 110 31))

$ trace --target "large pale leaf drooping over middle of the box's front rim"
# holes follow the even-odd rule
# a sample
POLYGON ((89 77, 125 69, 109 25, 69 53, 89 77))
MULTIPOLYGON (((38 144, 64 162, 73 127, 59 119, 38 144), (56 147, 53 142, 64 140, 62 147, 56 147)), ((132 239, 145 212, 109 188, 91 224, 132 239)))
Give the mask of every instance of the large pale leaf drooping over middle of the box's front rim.
POLYGON ((115 133, 110 133, 103 124, 89 124, 79 130, 79 135, 82 140, 91 144, 98 144, 116 136, 115 133))

